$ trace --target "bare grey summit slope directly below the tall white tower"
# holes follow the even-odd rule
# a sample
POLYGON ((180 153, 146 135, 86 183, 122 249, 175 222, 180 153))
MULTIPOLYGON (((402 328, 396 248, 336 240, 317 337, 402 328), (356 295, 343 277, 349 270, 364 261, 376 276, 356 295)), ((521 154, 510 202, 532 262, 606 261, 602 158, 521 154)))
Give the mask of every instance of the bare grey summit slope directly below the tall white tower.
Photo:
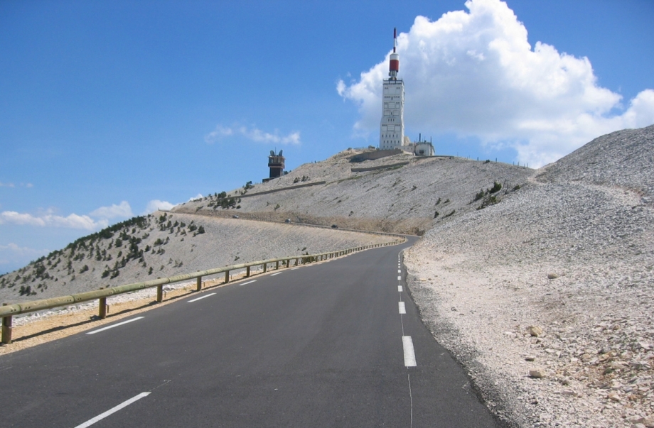
POLYGON ((173 211, 422 234, 432 223, 474 211, 486 199, 486 204, 499 202, 533 174, 528 168, 505 163, 417 158, 404 153, 350 162, 360 153, 345 150, 267 183, 196 199, 173 211), (353 168, 381 169, 353 172, 353 168), (287 189, 316 182, 325 184, 287 189), (495 183, 501 185, 501 192, 495 187, 493 195, 484 194, 495 183), (281 191, 257 194, 271 190, 281 191), (480 191, 483 197, 476 199, 480 191))

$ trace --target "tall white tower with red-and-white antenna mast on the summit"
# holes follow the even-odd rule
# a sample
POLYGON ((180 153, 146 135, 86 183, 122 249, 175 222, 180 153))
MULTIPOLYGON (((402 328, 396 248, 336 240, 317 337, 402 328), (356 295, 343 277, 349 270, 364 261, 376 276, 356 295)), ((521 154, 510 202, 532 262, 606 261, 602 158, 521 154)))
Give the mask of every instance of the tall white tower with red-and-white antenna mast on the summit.
POLYGON ((400 55, 397 55, 397 30, 393 28, 393 53, 390 54, 388 79, 382 92, 382 124, 379 132, 380 150, 398 148, 404 143, 404 82, 397 79, 400 55))

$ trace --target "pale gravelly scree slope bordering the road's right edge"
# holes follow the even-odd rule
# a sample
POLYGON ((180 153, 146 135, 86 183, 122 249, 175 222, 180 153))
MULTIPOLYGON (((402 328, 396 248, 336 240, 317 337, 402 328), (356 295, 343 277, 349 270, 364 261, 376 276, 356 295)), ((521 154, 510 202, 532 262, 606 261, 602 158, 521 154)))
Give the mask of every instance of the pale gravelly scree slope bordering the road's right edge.
POLYGON ((653 131, 597 138, 407 251, 425 322, 519 427, 654 427, 653 131))

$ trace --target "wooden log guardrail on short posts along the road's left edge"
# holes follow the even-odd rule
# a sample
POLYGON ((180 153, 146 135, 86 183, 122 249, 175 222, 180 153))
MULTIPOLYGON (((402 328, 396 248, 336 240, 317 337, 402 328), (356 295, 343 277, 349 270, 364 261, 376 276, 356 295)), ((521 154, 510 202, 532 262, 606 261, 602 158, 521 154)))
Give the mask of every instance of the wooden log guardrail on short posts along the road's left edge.
POLYGON ((382 246, 391 246, 397 245, 399 243, 404 243, 407 241, 407 238, 400 241, 392 241, 387 243, 376 243, 368 246, 359 246, 354 248, 348 248, 340 251, 330 251, 328 253, 320 254, 309 254, 304 256, 292 256, 292 257, 283 257, 283 258, 272 258, 270 260, 259 260, 252 263, 242 263, 239 265, 229 265, 224 268, 214 268, 209 270, 201 270, 199 272, 187 273, 184 275, 175 275, 168 278, 158 278, 156 280, 149 280, 145 282, 136 282, 134 284, 119 285, 118 287, 109 287, 102 290, 94 290, 87 292, 80 292, 75 295, 61 296, 61 297, 51 297, 50 299, 42 300, 33 300, 31 302, 22 302, 14 304, 3 304, 0 306, 0 317, 2 318, 2 334, 1 342, 3 344, 11 344, 11 324, 12 317, 14 315, 26 314, 29 312, 41 311, 44 309, 52 309, 53 307, 62 307, 68 306, 69 304, 76 304, 80 302, 88 302, 90 300, 99 300, 99 309, 98 317, 104 319, 107 317, 107 297, 114 295, 120 295, 126 292, 133 292, 137 290, 143 290, 144 288, 156 287, 156 302, 164 301, 164 285, 171 284, 173 282, 180 282, 184 280, 190 280, 193 278, 197 279, 196 290, 202 290, 202 277, 208 275, 215 275, 217 273, 225 273, 225 282, 227 284, 230 282, 230 270, 239 270, 245 268, 245 278, 250 277, 250 268, 252 266, 263 266, 263 272, 266 273, 267 267, 269 264, 274 263, 275 269, 279 269, 279 263, 282 262, 288 268, 291 265, 291 260, 295 260, 295 265, 312 263, 315 261, 327 260, 329 258, 336 258, 340 256, 345 256, 346 254, 354 253, 356 251, 368 250, 369 248, 377 248, 382 246))

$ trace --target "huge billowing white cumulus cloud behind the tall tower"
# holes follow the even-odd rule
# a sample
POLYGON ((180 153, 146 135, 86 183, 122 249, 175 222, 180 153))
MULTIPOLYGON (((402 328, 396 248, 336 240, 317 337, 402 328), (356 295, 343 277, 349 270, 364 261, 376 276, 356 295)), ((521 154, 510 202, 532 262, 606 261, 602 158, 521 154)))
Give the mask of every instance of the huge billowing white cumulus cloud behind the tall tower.
MULTIPOLYGON (((399 35, 407 126, 512 146, 520 163, 540 166, 604 133, 654 123, 654 90, 625 107, 597 84, 588 58, 541 42, 532 48, 503 1, 466 7, 437 21, 417 16, 399 35)), ((359 106, 355 133, 377 132, 387 75, 388 55, 358 81, 338 82, 338 94, 359 106)))

